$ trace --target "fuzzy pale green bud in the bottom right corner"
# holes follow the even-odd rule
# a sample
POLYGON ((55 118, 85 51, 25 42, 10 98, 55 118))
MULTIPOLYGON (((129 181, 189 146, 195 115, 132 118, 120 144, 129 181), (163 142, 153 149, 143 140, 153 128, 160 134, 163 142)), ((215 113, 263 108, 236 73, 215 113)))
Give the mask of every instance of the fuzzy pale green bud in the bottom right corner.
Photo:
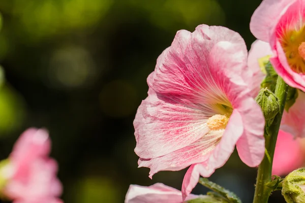
POLYGON ((282 195, 288 203, 305 202, 305 168, 295 170, 286 176, 282 195))

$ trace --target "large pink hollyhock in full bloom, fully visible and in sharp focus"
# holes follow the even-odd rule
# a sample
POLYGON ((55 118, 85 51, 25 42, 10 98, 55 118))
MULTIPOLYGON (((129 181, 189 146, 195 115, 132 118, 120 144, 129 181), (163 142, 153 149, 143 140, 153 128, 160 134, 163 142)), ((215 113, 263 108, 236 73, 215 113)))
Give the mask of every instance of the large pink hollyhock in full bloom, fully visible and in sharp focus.
POLYGON ((180 30, 147 78, 148 97, 134 120, 139 167, 189 168, 182 194, 209 177, 237 146, 249 166, 265 151, 264 117, 253 99, 253 73, 240 35, 221 26, 180 30))

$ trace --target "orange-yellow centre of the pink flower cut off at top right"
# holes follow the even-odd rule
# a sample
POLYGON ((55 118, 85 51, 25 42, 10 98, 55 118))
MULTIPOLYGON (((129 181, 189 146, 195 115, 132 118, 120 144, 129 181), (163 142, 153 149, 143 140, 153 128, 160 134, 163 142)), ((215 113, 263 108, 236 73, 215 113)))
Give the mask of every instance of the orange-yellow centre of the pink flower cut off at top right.
POLYGON ((281 38, 288 64, 296 73, 305 74, 305 28, 286 31, 281 38))

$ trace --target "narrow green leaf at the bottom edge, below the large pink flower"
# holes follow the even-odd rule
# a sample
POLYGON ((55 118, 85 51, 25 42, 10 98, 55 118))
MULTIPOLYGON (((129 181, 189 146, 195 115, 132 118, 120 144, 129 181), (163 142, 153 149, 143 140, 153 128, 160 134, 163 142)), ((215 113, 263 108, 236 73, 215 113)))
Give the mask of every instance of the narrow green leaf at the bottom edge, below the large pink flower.
MULTIPOLYGON (((233 192, 223 188, 222 186, 213 183, 209 181, 207 178, 200 178, 199 183, 212 191, 214 191, 216 194, 219 194, 219 196, 222 196, 227 202, 229 203, 241 203, 241 200, 234 194, 233 192)), ((215 194, 212 193, 212 194, 215 194)), ((211 195, 211 193, 209 193, 211 195)))

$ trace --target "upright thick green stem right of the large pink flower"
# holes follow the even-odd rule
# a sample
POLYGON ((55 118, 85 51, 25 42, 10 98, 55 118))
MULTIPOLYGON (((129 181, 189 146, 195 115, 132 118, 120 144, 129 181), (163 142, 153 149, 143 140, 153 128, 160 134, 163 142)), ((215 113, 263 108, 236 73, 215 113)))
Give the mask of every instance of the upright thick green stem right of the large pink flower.
POLYGON ((272 171, 272 160, 273 155, 275 153, 278 133, 280 129, 280 124, 282 120, 282 115, 285 107, 285 101, 287 97, 287 84, 284 80, 279 76, 276 86, 275 95, 279 99, 280 103, 280 111, 276 115, 272 124, 269 126, 268 132, 271 132, 268 135, 265 135, 266 143, 266 153, 269 155, 264 156, 263 161, 258 167, 257 179, 256 179, 256 187, 253 203, 267 203, 270 193, 272 189, 266 186, 266 183, 271 181, 271 171, 272 171), (271 160, 271 161, 270 161, 271 160))

